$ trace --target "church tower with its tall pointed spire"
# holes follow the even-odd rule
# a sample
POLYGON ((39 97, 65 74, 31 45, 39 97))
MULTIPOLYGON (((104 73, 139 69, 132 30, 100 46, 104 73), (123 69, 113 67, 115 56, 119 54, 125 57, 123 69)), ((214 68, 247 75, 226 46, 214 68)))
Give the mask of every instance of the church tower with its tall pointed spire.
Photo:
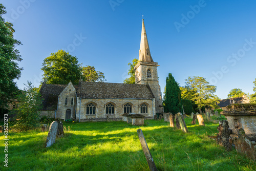
POLYGON ((150 53, 150 46, 146 37, 144 19, 142 19, 142 31, 140 40, 139 62, 134 67, 135 83, 148 84, 155 96, 156 113, 163 113, 161 89, 158 83, 157 67, 158 63, 153 61, 150 53))

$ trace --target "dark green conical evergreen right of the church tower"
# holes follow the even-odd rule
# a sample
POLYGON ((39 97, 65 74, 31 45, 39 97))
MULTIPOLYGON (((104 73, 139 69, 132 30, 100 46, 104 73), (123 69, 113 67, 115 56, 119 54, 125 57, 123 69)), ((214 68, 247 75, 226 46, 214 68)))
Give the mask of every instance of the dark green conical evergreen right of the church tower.
POLYGON ((165 87, 164 112, 172 114, 182 112, 180 88, 171 73, 166 77, 165 87))

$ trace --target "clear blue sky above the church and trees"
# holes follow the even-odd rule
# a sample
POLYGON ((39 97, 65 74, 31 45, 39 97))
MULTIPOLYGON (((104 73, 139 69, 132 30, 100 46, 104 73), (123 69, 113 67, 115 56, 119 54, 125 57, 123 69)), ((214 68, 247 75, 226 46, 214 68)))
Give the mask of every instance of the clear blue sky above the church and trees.
POLYGON ((60 49, 122 83, 139 57, 142 15, 159 84, 172 73, 184 86, 201 76, 225 99, 233 88, 253 93, 256 78, 256 1, 4 0, 27 80, 41 81, 42 61, 60 49))

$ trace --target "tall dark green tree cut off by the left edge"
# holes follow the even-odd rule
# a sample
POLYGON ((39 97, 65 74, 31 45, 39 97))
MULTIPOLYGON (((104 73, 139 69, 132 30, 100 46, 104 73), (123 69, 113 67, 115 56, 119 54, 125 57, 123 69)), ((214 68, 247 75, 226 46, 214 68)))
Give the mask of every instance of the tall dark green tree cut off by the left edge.
POLYGON ((16 46, 22 45, 19 40, 13 38, 13 24, 5 22, 2 15, 6 14, 5 7, 0 4, 0 108, 14 99, 18 91, 14 79, 19 79, 23 68, 18 67, 17 61, 22 58, 16 46))

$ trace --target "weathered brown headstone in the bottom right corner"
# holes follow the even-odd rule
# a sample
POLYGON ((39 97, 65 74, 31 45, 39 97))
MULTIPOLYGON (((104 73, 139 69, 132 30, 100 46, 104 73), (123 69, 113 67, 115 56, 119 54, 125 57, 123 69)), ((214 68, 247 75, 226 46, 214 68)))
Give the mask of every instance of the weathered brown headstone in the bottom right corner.
POLYGON ((243 129, 239 129, 239 137, 234 138, 236 150, 252 160, 256 160, 256 142, 250 141, 243 129))

